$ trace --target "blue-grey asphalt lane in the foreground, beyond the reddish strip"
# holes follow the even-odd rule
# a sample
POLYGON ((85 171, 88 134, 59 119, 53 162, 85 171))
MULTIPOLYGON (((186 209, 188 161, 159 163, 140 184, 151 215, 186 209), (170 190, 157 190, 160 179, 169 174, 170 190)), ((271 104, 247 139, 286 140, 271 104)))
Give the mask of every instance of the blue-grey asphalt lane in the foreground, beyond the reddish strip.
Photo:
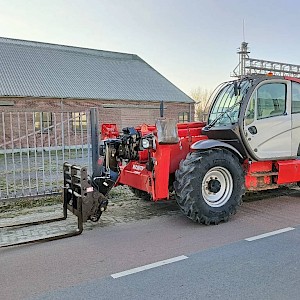
POLYGON ((95 279, 35 299, 299 299, 299 247, 300 227, 262 240, 205 250, 119 278, 95 279))

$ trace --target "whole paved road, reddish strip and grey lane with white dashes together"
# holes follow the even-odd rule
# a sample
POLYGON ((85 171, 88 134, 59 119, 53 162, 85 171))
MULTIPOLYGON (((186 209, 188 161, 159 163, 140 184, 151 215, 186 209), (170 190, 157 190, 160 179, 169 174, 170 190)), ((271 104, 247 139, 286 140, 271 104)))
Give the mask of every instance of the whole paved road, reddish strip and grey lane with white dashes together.
POLYGON ((299 200, 298 193, 244 203, 218 226, 175 214, 1 249, 0 298, 299 299, 299 200))

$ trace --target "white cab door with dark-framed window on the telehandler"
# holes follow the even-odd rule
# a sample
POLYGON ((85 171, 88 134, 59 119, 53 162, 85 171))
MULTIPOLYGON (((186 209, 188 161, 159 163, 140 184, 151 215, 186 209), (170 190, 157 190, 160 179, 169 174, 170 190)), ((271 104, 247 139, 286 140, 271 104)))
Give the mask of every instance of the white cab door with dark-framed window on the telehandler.
POLYGON ((291 83, 261 82, 251 95, 244 117, 248 151, 257 160, 292 156, 291 83))

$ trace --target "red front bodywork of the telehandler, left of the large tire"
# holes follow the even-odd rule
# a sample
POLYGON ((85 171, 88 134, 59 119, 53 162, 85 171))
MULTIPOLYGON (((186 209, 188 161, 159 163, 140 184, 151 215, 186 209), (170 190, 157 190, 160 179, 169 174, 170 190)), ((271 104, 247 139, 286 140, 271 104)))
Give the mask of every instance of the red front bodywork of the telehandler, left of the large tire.
MULTIPOLYGON (((102 137, 114 138, 118 132, 114 124, 102 125, 102 137), (103 126, 104 125, 104 126, 103 126)), ((125 184, 133 188, 146 191, 152 195, 153 201, 169 198, 169 178, 175 173, 179 163, 190 152, 194 142, 207 139, 201 134, 204 122, 190 122, 177 124, 179 142, 176 144, 156 143, 155 150, 143 150, 139 152, 138 161, 130 161, 125 166, 120 166, 121 172, 118 184, 125 184), (154 159, 154 169, 147 170, 146 164, 149 155, 154 159)), ((142 125, 136 127, 142 136, 149 133, 156 135, 156 127, 142 125)))

